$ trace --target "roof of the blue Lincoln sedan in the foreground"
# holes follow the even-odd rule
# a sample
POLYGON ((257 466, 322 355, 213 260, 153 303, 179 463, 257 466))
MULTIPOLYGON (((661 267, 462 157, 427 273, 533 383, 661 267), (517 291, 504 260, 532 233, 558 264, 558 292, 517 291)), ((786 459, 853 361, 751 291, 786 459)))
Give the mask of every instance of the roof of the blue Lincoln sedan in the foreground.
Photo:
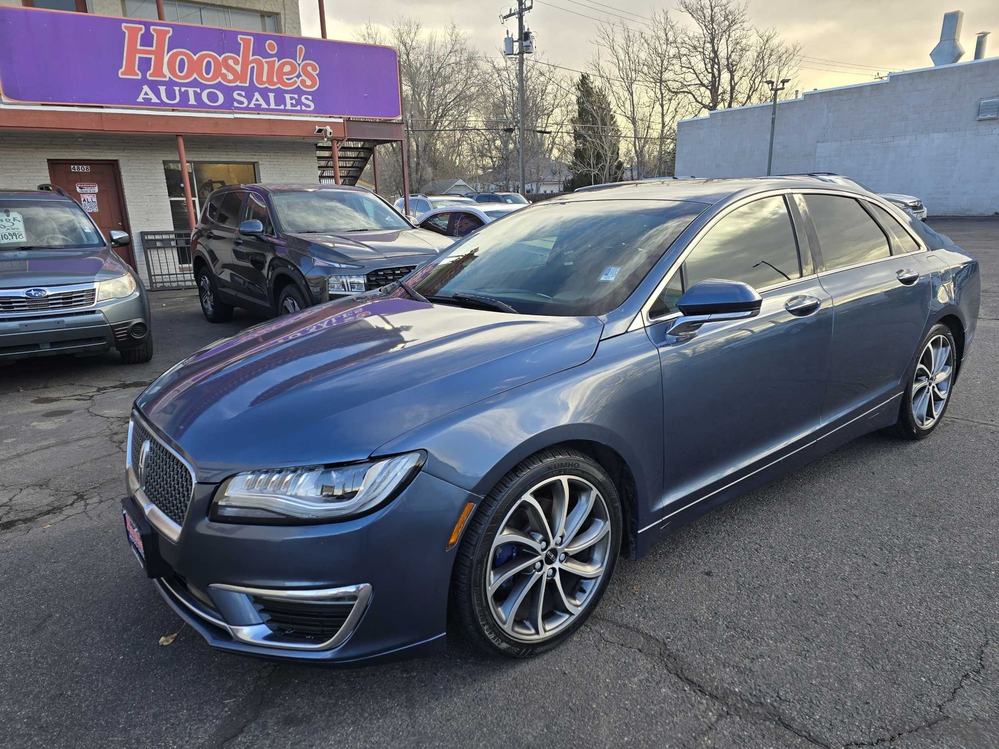
POLYGON ((557 203, 604 200, 670 200, 715 204, 730 198, 768 190, 842 190, 866 195, 862 190, 836 185, 812 177, 732 177, 713 180, 666 180, 663 182, 622 183, 619 187, 569 193, 553 199, 557 203))

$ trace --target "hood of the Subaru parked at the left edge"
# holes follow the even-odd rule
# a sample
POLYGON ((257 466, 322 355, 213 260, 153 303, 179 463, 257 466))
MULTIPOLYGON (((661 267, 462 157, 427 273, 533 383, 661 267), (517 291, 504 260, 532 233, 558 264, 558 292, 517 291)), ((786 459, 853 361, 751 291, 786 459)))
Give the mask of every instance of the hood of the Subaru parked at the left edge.
POLYGON ((86 284, 128 273, 107 249, 0 250, 0 289, 86 284))

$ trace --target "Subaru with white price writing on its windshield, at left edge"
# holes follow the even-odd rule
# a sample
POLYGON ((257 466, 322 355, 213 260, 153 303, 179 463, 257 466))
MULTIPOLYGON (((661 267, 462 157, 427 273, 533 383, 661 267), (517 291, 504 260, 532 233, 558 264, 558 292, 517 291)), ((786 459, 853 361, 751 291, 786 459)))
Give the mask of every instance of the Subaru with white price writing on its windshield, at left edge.
POLYGON ((117 350, 153 358, 146 288, 80 204, 51 185, 0 191, 0 363, 117 350))

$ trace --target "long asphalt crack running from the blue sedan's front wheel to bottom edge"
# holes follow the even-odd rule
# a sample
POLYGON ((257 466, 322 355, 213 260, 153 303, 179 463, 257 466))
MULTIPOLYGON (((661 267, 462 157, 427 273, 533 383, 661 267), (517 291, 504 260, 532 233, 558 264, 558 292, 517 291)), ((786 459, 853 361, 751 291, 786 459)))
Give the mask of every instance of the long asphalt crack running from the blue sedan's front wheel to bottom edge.
MULTIPOLYGON (((598 621, 603 624, 609 624, 613 627, 618 627, 636 635, 639 640, 647 645, 647 647, 635 647, 626 642, 620 642, 611 637, 608 637, 608 633, 601 631, 596 627, 591 627, 592 631, 595 632, 603 641, 616 645, 618 647, 627 648, 629 650, 634 650, 641 653, 647 658, 652 660, 661 661, 665 666, 666 671, 676 679, 687 685, 697 694, 701 695, 705 699, 719 704, 725 713, 734 713, 739 717, 753 718, 756 720, 763 720, 773 725, 779 726, 790 733, 793 733, 798 738, 804 739, 808 743, 821 747, 822 749, 833 749, 833 745, 829 742, 822 741, 809 731, 800 726, 796 726, 791 723, 786 717, 780 714, 778 710, 765 702, 759 702, 756 700, 750 700, 740 694, 737 694, 729 689, 716 690, 703 682, 697 680, 691 676, 687 670, 684 668, 680 660, 673 654, 664 642, 653 637, 652 635, 644 632, 636 627, 630 626, 628 624, 621 624, 620 622, 613 621, 612 619, 606 619, 603 617, 591 616, 590 621, 598 621), (652 652, 649 652, 649 649, 652 652)), ((717 721, 715 721, 717 723, 717 721)), ((705 731, 705 734, 708 733, 705 731)))

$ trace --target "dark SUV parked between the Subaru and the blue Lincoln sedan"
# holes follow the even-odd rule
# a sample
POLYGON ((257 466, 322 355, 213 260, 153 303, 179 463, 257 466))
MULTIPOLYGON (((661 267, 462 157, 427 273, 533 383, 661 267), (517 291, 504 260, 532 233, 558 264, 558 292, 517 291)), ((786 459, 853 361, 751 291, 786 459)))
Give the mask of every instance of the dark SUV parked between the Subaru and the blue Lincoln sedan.
POLYGON ((201 310, 287 315, 391 284, 448 247, 364 188, 230 185, 191 237, 201 310))

